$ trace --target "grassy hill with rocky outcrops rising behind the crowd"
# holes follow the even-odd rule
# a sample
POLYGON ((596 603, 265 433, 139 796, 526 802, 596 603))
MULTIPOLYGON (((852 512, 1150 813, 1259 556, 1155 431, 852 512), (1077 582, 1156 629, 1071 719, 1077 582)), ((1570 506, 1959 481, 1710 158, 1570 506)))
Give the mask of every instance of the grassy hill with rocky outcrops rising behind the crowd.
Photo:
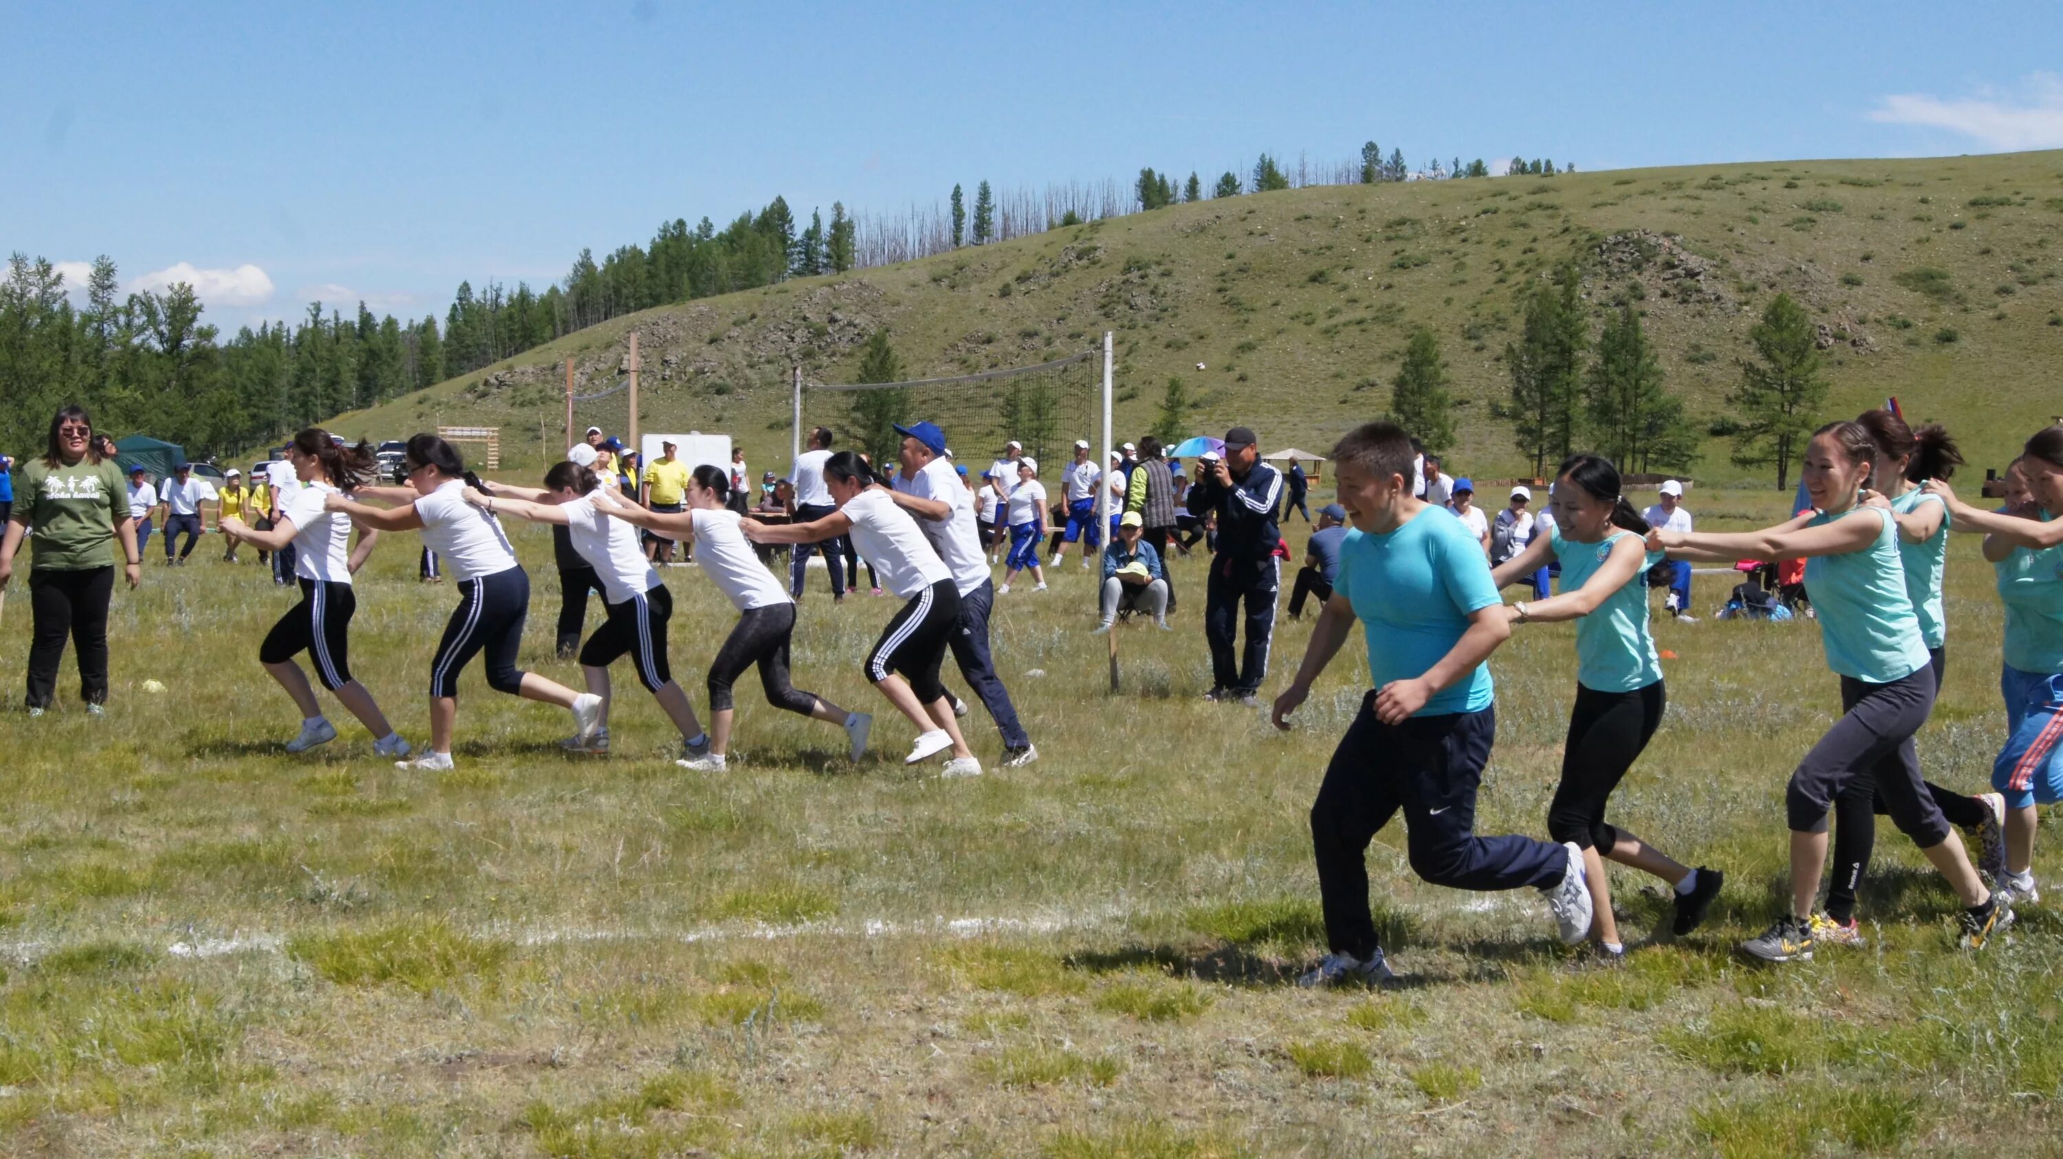
MULTIPOLYGON (((1492 417, 1508 390, 1500 353, 1522 287, 1574 256, 1599 313, 1640 303, 1702 423, 1725 412, 1756 316, 1789 291, 1828 328, 1830 417, 1896 394, 1908 417, 1947 423, 1972 464, 2003 466, 2063 410, 2059 233, 2063 153, 1322 186, 650 309, 332 425, 501 425, 522 466, 557 441, 563 359, 582 390, 604 386, 637 330, 646 429, 726 431, 776 464, 788 367, 840 382, 879 326, 920 375, 1046 361, 1116 330, 1122 435, 1182 375, 1203 392, 1197 431, 1250 423, 1269 448, 1322 450, 1388 406, 1423 324, 1465 402, 1450 464, 1514 474, 1510 427, 1492 417)), ((621 429, 623 398, 592 415, 621 429)), ((1768 478, 1733 466, 1723 439, 1690 472, 1768 478)))

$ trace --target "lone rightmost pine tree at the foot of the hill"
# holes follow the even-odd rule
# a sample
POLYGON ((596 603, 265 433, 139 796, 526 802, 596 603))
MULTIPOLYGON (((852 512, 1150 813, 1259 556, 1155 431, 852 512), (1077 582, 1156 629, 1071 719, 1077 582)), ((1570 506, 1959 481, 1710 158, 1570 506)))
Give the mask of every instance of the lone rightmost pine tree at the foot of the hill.
POLYGON ((1741 384, 1727 396, 1739 417, 1733 462, 1776 466, 1776 489, 1791 483, 1791 464, 1805 454, 1828 384, 1811 318, 1789 293, 1776 295, 1747 332, 1762 361, 1739 361, 1741 384))

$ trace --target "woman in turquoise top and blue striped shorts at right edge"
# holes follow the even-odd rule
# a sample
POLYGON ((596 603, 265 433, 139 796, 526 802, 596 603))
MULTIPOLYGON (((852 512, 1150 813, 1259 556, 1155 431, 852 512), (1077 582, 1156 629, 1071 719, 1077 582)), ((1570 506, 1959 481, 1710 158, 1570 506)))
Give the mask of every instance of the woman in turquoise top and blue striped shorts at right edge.
MULTIPOLYGON (((2063 427, 2028 439, 2013 464, 2030 503, 1980 511, 1929 483, 1956 530, 1985 532, 1985 559, 1999 571, 2005 604, 2005 749, 1991 765, 1991 788, 2005 796, 2005 883, 2001 893, 2036 901, 2036 804, 2063 800, 2063 427)), ((2007 472, 2013 474, 2013 472, 2007 472)))

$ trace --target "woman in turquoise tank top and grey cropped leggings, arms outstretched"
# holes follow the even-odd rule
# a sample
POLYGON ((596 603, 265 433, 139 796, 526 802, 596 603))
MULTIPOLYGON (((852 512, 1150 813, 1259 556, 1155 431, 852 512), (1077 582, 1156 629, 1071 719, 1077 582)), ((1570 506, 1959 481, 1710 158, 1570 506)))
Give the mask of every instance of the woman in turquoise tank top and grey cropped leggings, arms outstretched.
POLYGON ((1921 623, 1906 596, 1898 524, 1861 505, 1877 445, 1861 423, 1828 423, 1805 450, 1805 491, 1820 511, 1799 526, 1743 534, 1648 532, 1669 559, 1735 563, 1805 559, 1828 666, 1840 676, 1842 716, 1799 761, 1784 792, 1791 825, 1791 912, 1741 949, 1764 961, 1811 959, 1813 899, 1826 862, 1828 810, 1873 773, 1892 821, 1962 899, 1962 945, 1980 949, 2013 914, 1978 879, 1962 841, 1921 780, 1912 734, 1927 724, 1935 685, 1921 623))

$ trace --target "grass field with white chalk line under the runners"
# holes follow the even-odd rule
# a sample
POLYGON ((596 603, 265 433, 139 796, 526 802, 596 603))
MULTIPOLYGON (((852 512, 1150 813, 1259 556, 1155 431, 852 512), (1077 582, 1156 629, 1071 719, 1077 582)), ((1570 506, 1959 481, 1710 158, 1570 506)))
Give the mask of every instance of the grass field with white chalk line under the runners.
MULTIPOLYGON (((1770 499, 1692 505, 1749 526, 1770 499)), ((549 656, 549 540, 518 544, 524 662, 578 681, 549 656)), ((1322 949, 1306 810, 1364 664, 1343 652, 1289 734, 1201 703, 1199 561, 1176 565, 1180 631, 1120 631, 1118 697, 1081 571, 1001 600, 1027 769, 904 769, 910 730, 858 672, 893 604, 833 608, 819 575, 796 681, 877 714, 860 765, 741 687, 732 771, 685 775, 619 666, 615 757, 563 757, 563 711, 472 670, 458 769, 419 775, 342 716, 326 751, 281 753, 297 722, 256 648, 289 594, 219 549, 118 596, 107 720, 21 716, 21 586, 0 625, 10 1153, 2034 1155, 2063 1130, 2053 901, 1964 955, 1956 899, 1884 825, 1867 949, 1733 955, 1778 912, 1784 777, 1838 707, 1809 623, 1659 627, 1673 703, 1613 817, 1727 870, 1712 924, 1648 945, 1667 899, 1615 870, 1630 963, 1572 969, 1531 891, 1426 887, 1393 827, 1374 905, 1411 984, 1345 994, 1291 980, 1322 949)), ((415 551, 394 536, 361 577, 353 668, 421 740, 456 594, 413 582, 415 551)), ((1974 542, 1952 553, 1921 742, 1929 775, 1976 788, 2001 617, 1974 542)), ((697 571, 666 582, 701 705, 734 617, 697 571)), ((1700 612, 1721 596, 1700 580, 1700 612)), ((1283 625, 1271 687, 1306 635, 1283 625)), ((1543 833, 1572 629, 1520 629, 1492 664, 1481 829, 1543 833)), ((980 707, 968 724, 992 765, 980 707)))

